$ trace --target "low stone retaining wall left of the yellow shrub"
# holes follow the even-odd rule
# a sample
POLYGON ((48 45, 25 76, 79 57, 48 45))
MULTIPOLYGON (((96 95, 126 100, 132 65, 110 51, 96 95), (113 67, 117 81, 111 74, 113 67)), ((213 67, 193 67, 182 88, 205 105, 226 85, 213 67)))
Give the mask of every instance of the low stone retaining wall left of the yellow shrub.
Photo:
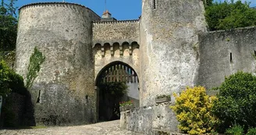
POLYGON ((176 115, 169 108, 171 102, 133 108, 121 112, 120 127, 137 133, 157 134, 158 130, 179 132, 176 115))

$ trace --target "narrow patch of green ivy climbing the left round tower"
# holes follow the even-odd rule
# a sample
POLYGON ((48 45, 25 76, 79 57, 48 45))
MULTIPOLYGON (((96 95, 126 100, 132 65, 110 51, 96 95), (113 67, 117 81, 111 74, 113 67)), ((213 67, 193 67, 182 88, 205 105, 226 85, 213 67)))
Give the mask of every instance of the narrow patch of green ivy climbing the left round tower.
POLYGON ((44 59, 44 55, 35 47, 33 54, 30 56, 30 64, 27 68, 27 88, 30 88, 37 78, 37 73, 40 71, 44 59))

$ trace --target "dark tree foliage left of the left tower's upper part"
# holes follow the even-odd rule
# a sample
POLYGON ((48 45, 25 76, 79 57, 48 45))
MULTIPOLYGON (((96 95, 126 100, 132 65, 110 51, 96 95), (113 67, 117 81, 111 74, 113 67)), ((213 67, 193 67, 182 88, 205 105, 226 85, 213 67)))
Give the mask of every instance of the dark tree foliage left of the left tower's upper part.
POLYGON ((16 46, 16 0, 2 0, 0 5, 0 50, 13 50, 16 46))

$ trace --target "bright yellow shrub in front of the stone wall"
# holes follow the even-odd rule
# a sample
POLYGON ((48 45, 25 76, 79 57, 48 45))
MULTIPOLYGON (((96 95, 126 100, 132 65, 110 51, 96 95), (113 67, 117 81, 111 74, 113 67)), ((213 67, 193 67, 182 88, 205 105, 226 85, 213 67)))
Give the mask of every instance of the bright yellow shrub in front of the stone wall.
POLYGON ((187 87, 180 96, 174 94, 175 105, 170 106, 180 122, 178 128, 184 133, 197 135, 210 133, 214 130, 217 119, 212 115, 212 101, 204 87, 187 87))

